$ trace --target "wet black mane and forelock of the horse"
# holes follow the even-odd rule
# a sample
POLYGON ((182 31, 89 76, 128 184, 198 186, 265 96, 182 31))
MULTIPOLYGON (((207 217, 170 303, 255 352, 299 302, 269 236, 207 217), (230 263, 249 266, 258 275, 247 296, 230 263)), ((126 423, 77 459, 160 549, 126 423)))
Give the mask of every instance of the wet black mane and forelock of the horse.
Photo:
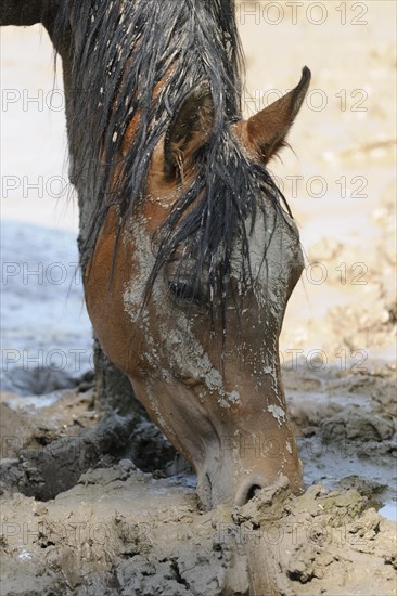
POLYGON ((283 197, 269 172, 249 160, 230 131, 230 122, 241 119, 234 0, 62 0, 57 11, 55 38, 69 30, 71 39, 71 154, 82 165, 74 165, 73 179, 79 192, 84 187, 92 196, 82 259, 89 258, 111 206, 119 213, 118 235, 137 213, 145 200, 153 151, 182 100, 207 82, 215 129, 196 157, 195 180, 158 231, 148 291, 169 257, 183 248, 194 256, 189 260, 192 277, 198 280, 206 263, 212 294, 225 296, 238 242, 249 269, 246 222, 254 225, 265 205, 260 197, 283 213, 283 197), (154 100, 159 82, 164 86, 154 100), (135 116, 138 127, 121 159, 135 116))

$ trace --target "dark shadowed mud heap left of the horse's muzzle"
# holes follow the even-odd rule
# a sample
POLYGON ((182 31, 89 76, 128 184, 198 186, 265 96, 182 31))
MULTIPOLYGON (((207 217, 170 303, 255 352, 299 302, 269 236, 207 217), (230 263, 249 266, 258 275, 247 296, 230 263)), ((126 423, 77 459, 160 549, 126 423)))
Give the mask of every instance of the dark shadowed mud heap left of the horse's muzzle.
POLYGON ((100 413, 92 390, 60 391, 50 398, 55 403, 36 409, 24 407, 26 398, 1 396, 0 494, 20 492, 48 501, 74 487, 90 468, 128 456, 145 471, 159 474, 175 457, 174 448, 145 416, 100 413))

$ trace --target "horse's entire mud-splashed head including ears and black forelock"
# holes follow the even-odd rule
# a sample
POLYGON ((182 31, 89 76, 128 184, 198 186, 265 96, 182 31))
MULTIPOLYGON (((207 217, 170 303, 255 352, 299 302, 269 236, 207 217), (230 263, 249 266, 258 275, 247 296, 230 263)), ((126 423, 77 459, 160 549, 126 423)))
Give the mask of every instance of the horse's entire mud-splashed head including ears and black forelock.
POLYGON ((196 470, 205 507, 242 505, 281 475, 300 488, 278 346, 303 256, 265 166, 309 80, 304 68, 294 90, 221 130, 209 83, 191 90, 153 151, 144 200, 116 248, 108 210, 86 275, 103 348, 196 470))

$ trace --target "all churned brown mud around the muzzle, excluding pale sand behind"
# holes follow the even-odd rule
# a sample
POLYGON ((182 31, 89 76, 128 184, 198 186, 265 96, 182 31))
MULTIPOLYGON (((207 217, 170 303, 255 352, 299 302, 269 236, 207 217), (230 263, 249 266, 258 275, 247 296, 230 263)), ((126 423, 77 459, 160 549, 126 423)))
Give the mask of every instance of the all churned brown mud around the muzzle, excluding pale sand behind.
POLYGON ((283 479, 245 507, 207 514, 189 477, 162 478, 172 452, 150 423, 100 420, 78 391, 46 415, 9 409, 26 442, 8 443, 13 457, 0 464, 2 594, 249 594, 265 566, 274 594, 395 594, 395 524, 371 507, 394 485, 394 375, 385 363, 366 374, 284 371, 316 485, 294 497, 283 479), (47 444, 31 449, 40 429, 47 444))

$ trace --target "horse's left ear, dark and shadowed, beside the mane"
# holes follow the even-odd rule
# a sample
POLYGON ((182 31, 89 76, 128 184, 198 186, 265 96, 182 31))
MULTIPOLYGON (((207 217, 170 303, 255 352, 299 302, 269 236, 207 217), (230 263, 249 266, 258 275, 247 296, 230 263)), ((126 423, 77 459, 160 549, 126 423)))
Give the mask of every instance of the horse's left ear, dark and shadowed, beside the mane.
POLYGON ((190 91, 169 125, 164 144, 166 176, 183 172, 194 154, 208 141, 214 130, 215 108, 208 82, 190 91))

